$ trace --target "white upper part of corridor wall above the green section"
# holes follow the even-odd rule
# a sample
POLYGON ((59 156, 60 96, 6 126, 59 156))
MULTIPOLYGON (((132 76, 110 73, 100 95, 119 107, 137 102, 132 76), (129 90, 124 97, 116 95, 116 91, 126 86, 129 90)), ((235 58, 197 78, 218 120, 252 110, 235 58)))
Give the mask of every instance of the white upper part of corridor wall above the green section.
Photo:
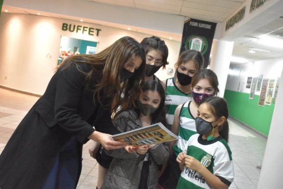
MULTIPOLYGON (((248 77, 263 75, 263 79, 276 81, 281 76, 282 69, 283 58, 230 65, 225 89, 239 91, 239 85, 243 84, 242 92, 250 93, 250 88, 246 88, 248 77)), ((255 91, 255 95, 260 95, 260 91, 255 91)))

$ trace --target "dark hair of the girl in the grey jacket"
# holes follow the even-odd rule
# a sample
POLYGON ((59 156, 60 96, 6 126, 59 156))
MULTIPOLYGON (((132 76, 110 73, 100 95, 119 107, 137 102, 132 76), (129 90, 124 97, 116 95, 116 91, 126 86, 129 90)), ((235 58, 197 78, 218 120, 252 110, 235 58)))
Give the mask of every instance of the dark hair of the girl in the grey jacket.
MULTIPOLYGON (((158 81, 153 81, 153 80, 145 81, 141 87, 141 90, 143 92, 147 90, 151 90, 151 91, 157 91, 159 93, 161 97, 161 101, 160 101, 158 109, 151 114, 152 121, 154 121, 155 123, 161 122, 165 127, 167 127, 166 110, 165 110, 165 92, 164 92, 164 89, 161 83, 158 81)), ((138 106, 136 105, 136 107, 138 106)), ((135 108, 135 111, 139 115, 140 113, 139 108, 135 108)))

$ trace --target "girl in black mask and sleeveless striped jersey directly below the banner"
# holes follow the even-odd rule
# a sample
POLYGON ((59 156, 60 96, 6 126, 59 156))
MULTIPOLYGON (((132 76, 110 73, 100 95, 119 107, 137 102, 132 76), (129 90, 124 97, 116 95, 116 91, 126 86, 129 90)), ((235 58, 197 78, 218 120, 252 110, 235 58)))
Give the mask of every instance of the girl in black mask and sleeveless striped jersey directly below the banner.
POLYGON ((195 73, 203 67, 203 62, 203 56, 199 51, 184 51, 175 64, 175 77, 162 81, 166 93, 166 119, 170 129, 176 107, 191 99, 189 98, 191 80, 195 73))

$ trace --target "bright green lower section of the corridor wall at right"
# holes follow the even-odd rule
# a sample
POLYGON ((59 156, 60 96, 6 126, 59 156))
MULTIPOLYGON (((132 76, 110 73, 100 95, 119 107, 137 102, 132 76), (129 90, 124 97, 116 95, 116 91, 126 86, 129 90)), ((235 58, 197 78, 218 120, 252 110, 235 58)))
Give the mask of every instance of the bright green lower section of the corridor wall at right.
POLYGON ((249 99, 248 93, 225 90, 224 99, 227 101, 229 114, 255 130, 268 136, 274 104, 259 106, 260 96, 254 95, 249 99))

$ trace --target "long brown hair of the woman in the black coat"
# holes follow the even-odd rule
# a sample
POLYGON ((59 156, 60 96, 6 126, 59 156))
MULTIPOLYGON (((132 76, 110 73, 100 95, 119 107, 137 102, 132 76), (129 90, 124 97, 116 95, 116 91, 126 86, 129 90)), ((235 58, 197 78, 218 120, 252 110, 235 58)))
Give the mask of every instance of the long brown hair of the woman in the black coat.
POLYGON ((79 62, 87 63, 92 67, 88 73, 84 73, 77 64, 78 69, 86 75, 86 86, 93 91, 94 102, 98 99, 102 104, 103 99, 111 99, 111 104, 108 105, 112 106, 113 111, 119 106, 126 109, 135 103, 140 92, 140 84, 144 82, 146 62, 144 49, 134 38, 122 37, 95 55, 70 56, 59 67, 59 71, 67 69, 71 63, 79 62), (140 57, 142 64, 132 78, 122 83, 122 70, 131 66, 135 57, 140 57))

